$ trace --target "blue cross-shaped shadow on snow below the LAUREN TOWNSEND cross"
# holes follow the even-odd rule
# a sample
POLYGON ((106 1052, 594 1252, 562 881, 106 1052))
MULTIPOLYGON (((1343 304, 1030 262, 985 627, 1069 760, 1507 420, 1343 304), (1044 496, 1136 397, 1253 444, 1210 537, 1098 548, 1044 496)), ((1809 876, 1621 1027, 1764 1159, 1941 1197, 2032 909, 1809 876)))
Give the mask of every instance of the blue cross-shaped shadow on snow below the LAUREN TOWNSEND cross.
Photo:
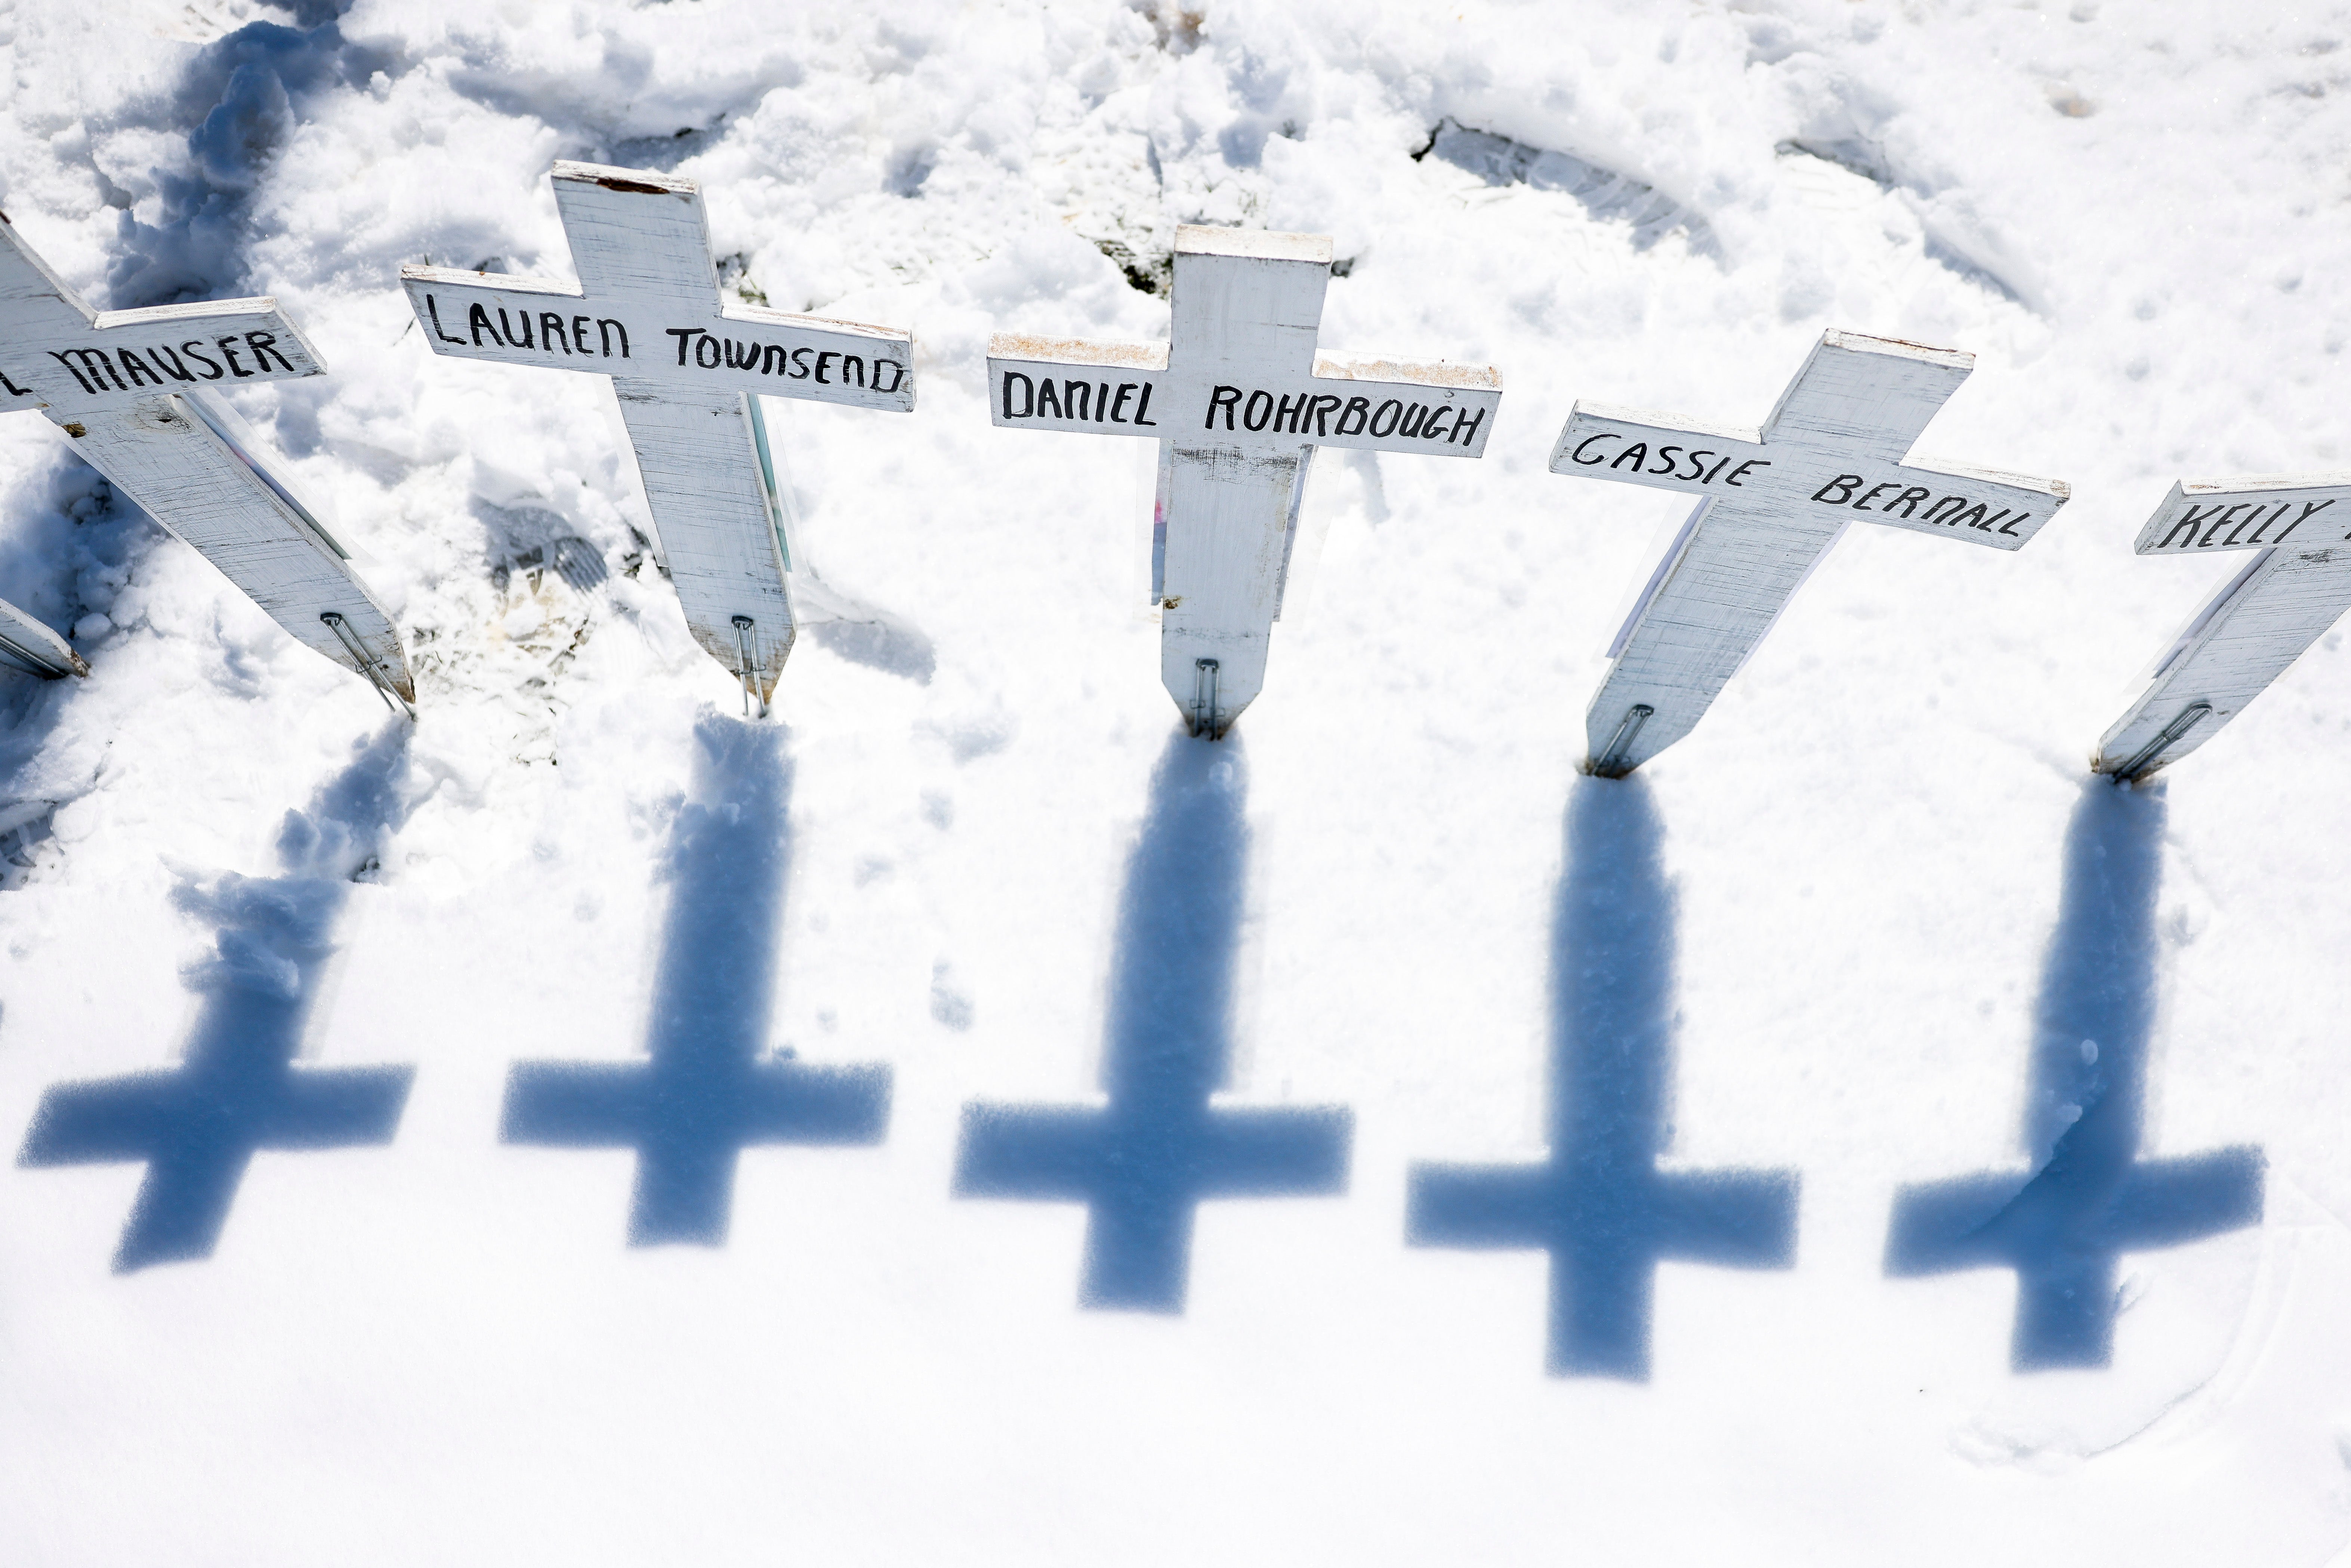
POLYGON ((670 837, 670 914, 647 1063, 517 1063, 503 1140, 637 1152, 630 1246, 722 1246, 736 1157, 750 1145, 875 1145, 889 1067, 769 1056, 792 766, 781 724, 705 712, 694 785, 670 837))

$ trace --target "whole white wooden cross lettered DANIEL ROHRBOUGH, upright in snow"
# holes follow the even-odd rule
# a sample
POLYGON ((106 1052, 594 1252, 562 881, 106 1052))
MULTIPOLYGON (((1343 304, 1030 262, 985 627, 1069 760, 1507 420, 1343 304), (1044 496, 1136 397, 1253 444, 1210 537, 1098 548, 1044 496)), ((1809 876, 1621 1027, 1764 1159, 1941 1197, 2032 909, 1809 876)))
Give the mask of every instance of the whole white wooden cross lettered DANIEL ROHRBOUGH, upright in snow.
POLYGON ((1483 456, 1491 367, 1317 355, 1331 240, 1176 230, 1173 343, 997 334, 994 423, 1159 440, 1159 679, 1223 736, 1265 686, 1314 447, 1483 456))

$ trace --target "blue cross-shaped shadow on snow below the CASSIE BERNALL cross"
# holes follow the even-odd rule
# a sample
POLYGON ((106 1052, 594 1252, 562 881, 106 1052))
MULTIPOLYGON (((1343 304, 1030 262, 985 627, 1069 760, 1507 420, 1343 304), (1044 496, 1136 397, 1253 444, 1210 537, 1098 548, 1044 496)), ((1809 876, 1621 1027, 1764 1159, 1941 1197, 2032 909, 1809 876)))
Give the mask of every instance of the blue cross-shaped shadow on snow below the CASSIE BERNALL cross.
POLYGON ((1552 922, 1549 1159, 1418 1166, 1413 1246, 1552 1255, 1549 1371, 1646 1380, 1657 1260, 1780 1269, 1796 1175, 1660 1171, 1672 1140, 1674 891, 1639 778, 1578 778, 1552 922))

